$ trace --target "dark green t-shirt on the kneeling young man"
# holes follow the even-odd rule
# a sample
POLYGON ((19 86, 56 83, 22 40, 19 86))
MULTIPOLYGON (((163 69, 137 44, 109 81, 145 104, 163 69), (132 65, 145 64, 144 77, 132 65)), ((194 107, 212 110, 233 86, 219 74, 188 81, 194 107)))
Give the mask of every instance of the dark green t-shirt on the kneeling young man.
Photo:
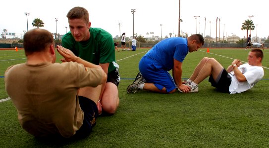
POLYGON ((101 28, 90 28, 91 37, 77 42, 68 32, 62 37, 62 46, 70 49, 76 56, 99 65, 109 63, 108 73, 118 65, 115 62, 115 47, 112 36, 101 28))

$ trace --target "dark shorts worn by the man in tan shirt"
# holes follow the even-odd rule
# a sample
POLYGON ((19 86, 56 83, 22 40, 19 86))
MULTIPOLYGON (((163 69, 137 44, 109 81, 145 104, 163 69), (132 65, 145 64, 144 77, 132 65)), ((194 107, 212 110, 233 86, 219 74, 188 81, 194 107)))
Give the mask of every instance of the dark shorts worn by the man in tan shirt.
POLYGON ((75 136, 88 136, 95 126, 96 118, 99 114, 97 105, 91 99, 83 96, 78 96, 78 100, 80 108, 84 112, 84 119, 82 126, 77 130, 75 136))

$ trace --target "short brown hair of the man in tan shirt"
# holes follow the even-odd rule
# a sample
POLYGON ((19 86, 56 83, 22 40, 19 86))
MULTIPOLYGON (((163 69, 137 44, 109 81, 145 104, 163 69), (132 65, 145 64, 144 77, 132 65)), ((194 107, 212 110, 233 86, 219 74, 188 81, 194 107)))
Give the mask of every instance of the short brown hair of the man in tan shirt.
POLYGON ((34 52, 44 51, 51 44, 54 44, 53 34, 44 29, 32 29, 23 36, 26 56, 34 52))

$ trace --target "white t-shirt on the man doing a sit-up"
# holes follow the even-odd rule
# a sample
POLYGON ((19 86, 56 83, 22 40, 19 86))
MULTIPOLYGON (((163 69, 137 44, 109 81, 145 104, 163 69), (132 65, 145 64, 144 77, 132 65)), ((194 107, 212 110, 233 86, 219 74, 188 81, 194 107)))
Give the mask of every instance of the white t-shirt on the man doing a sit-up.
POLYGON ((245 63, 239 66, 238 69, 240 70, 240 72, 242 72, 242 74, 244 74, 247 81, 239 82, 236 79, 233 71, 229 73, 229 75, 232 78, 229 87, 230 94, 247 91, 251 89, 259 80, 261 80, 264 77, 264 69, 261 66, 251 66, 248 63, 245 63))

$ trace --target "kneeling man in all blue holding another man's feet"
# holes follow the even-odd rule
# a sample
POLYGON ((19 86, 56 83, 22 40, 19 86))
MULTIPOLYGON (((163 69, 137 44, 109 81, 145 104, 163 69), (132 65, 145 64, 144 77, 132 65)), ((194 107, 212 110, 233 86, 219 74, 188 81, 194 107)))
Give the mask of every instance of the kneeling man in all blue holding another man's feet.
POLYGON ((139 62, 139 71, 127 93, 140 89, 158 93, 173 93, 176 88, 187 93, 190 87, 182 84, 182 62, 188 52, 197 51, 205 43, 200 34, 188 38, 172 37, 157 43, 139 62), (172 70, 172 75, 168 71, 172 70))

